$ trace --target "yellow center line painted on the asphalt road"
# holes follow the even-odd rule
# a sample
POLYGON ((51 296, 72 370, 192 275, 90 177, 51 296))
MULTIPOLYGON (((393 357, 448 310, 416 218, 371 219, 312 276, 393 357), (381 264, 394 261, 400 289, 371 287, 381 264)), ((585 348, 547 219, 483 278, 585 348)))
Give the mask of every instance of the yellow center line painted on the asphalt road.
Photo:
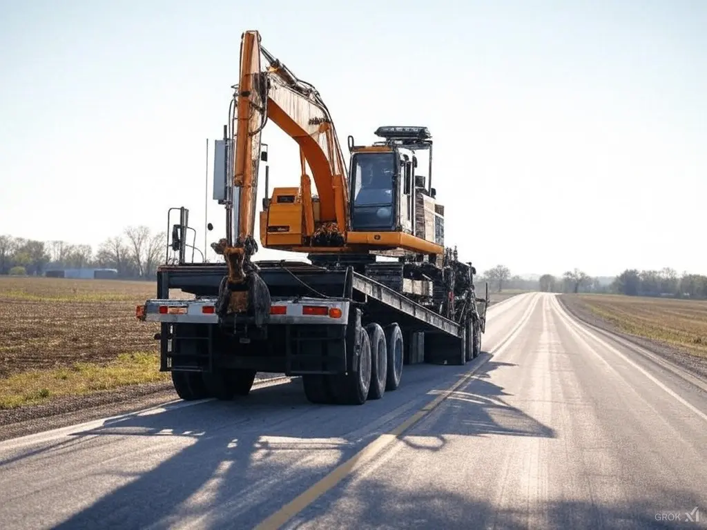
POLYGON ((322 478, 319 482, 312 485, 304 493, 298 495, 298 497, 295 497, 293 500, 281 507, 280 510, 272 514, 270 517, 264 519, 264 521, 255 526, 253 530, 274 530, 280 528, 280 526, 288 522, 292 517, 304 510, 306 507, 312 504, 312 502, 317 500, 318 497, 324 495, 325 493, 327 493, 327 491, 334 488, 334 486, 344 480, 346 476, 349 476, 349 474, 351 474, 353 471, 356 471, 356 469, 359 469, 361 466, 367 464, 388 444, 397 440, 397 437, 402 435, 403 432, 411 428, 413 425, 418 423, 419 420, 431 413, 431 411, 433 411, 443 401, 445 401, 445 399, 447 399, 456 389, 461 387, 462 384, 469 381, 469 379, 472 379, 474 373, 476 373, 480 367, 486 364, 486 362, 488 362, 490 358, 491 355, 484 355, 484 359, 481 361, 481 363, 473 367, 471 370, 469 370, 469 372, 466 372, 464 375, 462 375, 459 381, 457 381, 455 384, 452 384, 452 386, 443 391, 442 394, 437 396, 430 403, 426 404, 426 406, 423 406, 423 408, 414 413, 410 418, 405 420, 396 428, 390 430, 384 435, 380 435, 378 438, 373 440, 373 442, 370 442, 370 444, 366 445, 366 447, 363 447, 361 451, 354 454, 353 457, 346 460, 343 464, 339 464, 339 466, 334 469, 334 471, 322 478))

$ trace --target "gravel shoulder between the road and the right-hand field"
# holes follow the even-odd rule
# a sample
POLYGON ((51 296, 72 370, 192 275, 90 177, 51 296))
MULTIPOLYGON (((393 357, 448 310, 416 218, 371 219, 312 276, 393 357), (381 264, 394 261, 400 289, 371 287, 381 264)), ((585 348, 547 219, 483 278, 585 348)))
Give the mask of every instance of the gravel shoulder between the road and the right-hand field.
POLYGON ((660 355, 665 360, 681 367, 682 369, 690 372, 692 375, 696 375, 701 379, 707 380, 707 360, 691 355, 689 352, 676 348, 672 345, 668 345, 662 341, 627 334, 624 331, 620 331, 617 329, 617 326, 614 326, 610 322, 607 322, 594 314, 585 304, 583 304, 580 299, 575 298, 573 295, 559 295, 557 299, 562 307, 567 310, 567 312, 580 321, 591 324, 592 326, 597 326, 597 328, 608 331, 609 333, 617 335, 621 338, 625 338, 627 341, 630 341, 637 346, 642 346, 643 348, 660 355))

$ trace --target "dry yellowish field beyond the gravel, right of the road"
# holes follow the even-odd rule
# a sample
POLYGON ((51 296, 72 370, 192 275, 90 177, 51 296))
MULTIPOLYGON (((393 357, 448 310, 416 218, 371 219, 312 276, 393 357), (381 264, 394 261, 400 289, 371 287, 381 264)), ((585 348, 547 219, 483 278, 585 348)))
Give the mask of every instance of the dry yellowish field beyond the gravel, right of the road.
POLYGON ((578 295, 594 313, 629 334, 707 358, 707 301, 623 295, 578 295))

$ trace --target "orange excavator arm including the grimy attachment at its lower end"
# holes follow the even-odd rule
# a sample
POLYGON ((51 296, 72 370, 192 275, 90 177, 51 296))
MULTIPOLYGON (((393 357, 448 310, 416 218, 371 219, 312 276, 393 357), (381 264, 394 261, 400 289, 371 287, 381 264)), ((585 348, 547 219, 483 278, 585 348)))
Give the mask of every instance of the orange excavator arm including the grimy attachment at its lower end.
POLYGON ((240 302, 235 303, 233 297, 230 301, 232 310, 240 312, 247 306, 245 293, 249 288, 246 284, 252 283, 247 279, 257 274, 257 266, 250 258, 257 252, 254 232, 260 134, 267 121, 274 122, 300 147, 301 188, 308 194, 305 203, 309 208, 305 208, 305 225, 312 232, 308 235, 315 231, 338 232, 345 240, 349 192, 346 160, 334 122, 320 94, 267 52, 260 45, 260 35, 255 30, 246 31, 241 37, 240 76, 234 88, 230 140, 234 146, 232 210, 236 223, 235 230, 230 230, 229 221, 227 237, 212 247, 226 258, 230 290, 243 293, 240 302), (317 226, 311 213, 305 161, 319 195, 317 226))

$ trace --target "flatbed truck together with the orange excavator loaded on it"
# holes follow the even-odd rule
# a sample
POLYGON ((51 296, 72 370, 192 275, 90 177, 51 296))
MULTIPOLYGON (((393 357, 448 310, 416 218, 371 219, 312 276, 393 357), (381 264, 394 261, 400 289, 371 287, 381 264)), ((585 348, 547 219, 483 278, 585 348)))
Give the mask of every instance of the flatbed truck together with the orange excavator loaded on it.
POLYGON ((476 358, 488 285, 477 298, 474 267, 445 247, 428 129, 380 126, 380 140, 363 146, 349 136, 347 163, 320 94, 264 49, 257 31, 243 33, 233 88, 214 160, 214 199, 227 222, 211 248, 226 264, 196 263, 193 252, 187 262, 195 247, 182 206, 157 298, 136 307, 136 317, 160 323, 160 370, 172 372, 177 394, 230 399, 250 391, 256 372, 281 372, 301 375, 314 403, 363 404, 399 387, 404 360, 476 358), (299 185, 271 194, 261 142, 268 122, 300 148, 299 185), (260 243, 310 263, 253 259, 261 162, 260 243), (173 289, 194 298, 170 298, 173 289))

